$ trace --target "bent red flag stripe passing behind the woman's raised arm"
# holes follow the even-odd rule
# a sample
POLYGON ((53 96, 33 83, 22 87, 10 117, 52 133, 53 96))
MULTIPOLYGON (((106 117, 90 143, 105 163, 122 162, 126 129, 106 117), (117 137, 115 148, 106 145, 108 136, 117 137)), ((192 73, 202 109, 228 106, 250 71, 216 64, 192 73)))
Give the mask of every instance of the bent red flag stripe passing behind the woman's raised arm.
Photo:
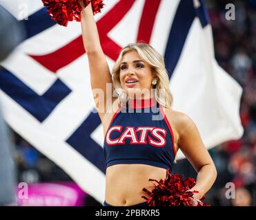
MULTIPOLYGON (((114 41, 108 38, 107 34, 112 28, 119 23, 119 21, 125 16, 125 14, 130 10, 135 0, 119 1, 115 7, 113 7, 104 17, 102 17, 97 22, 97 27, 99 31, 99 37, 101 39, 101 46, 104 50, 104 53, 116 60, 121 47, 117 45, 114 41)), ((68 43, 64 47, 61 47, 59 50, 52 52, 50 54, 36 56, 30 55, 38 63, 49 69, 51 72, 56 73, 62 67, 65 67, 72 61, 75 61, 79 56, 83 55, 85 52, 83 48, 83 40, 79 36, 74 41, 68 43)))

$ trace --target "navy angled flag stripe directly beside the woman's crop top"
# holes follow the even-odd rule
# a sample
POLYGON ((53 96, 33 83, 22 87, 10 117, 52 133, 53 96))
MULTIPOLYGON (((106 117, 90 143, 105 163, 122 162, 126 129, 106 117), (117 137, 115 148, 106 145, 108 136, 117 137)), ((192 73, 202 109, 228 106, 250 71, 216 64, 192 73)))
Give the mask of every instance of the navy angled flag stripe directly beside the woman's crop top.
POLYGON ((99 115, 91 112, 86 120, 79 126, 77 131, 72 133, 66 142, 105 174, 106 159, 104 157, 104 150, 90 137, 90 134, 95 131, 100 124, 101 120, 99 115))

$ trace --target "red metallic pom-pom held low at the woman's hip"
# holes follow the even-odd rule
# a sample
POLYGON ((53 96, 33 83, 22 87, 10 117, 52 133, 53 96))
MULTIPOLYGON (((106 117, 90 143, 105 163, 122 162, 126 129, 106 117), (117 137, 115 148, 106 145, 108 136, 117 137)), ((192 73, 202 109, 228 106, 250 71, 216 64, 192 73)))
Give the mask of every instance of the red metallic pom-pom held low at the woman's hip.
MULTIPOLYGON (((194 193, 198 193, 198 191, 188 191, 195 186, 195 179, 188 177, 182 180, 182 177, 176 173, 170 175, 170 168, 166 170, 166 179, 160 181, 149 179, 149 181, 155 181, 157 184, 154 184, 151 192, 143 188, 149 196, 148 198, 142 196, 148 202, 148 206, 192 206, 190 200, 194 193)), ((209 206, 200 200, 197 202, 197 206, 209 206)))

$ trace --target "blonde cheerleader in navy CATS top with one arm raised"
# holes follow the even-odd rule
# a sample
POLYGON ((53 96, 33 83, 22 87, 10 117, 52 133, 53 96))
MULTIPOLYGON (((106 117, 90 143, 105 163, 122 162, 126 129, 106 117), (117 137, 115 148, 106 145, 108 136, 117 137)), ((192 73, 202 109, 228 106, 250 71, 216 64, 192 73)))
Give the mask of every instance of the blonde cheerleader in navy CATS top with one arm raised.
POLYGON ((185 113, 174 111, 164 58, 146 43, 124 47, 112 68, 101 48, 92 5, 81 12, 83 46, 88 56, 92 91, 101 89, 95 104, 104 127, 106 193, 104 206, 146 206, 148 179, 164 179, 180 149, 197 171, 196 199, 213 186, 217 171, 197 126, 185 113), (107 85, 118 96, 108 96, 107 85))

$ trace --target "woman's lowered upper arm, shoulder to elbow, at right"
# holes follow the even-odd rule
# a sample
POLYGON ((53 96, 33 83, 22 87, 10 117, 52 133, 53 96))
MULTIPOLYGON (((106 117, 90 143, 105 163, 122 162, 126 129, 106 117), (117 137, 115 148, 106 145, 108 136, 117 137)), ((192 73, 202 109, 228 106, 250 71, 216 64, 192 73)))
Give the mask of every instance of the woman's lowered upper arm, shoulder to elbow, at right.
POLYGON ((197 172, 204 165, 213 164, 199 130, 188 115, 181 116, 178 145, 197 172))

